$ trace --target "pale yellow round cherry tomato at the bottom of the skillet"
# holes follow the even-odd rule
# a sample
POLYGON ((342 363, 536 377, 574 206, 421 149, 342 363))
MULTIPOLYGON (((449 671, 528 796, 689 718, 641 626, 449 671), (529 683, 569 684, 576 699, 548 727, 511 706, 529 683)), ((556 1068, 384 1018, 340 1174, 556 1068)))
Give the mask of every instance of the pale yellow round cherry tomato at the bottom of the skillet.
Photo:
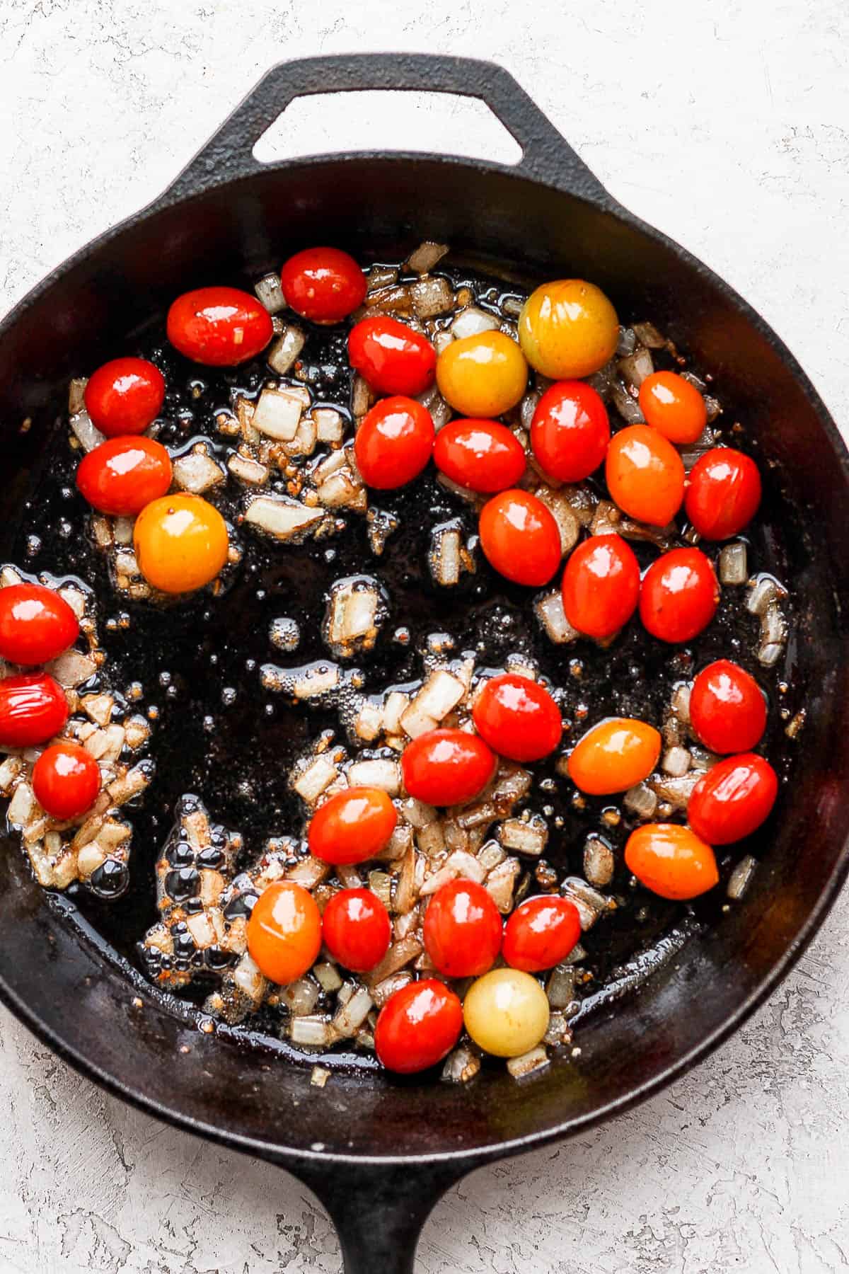
POLYGON ((470 1036, 496 1057, 518 1057, 549 1029, 549 1001, 535 977, 494 968, 468 987, 463 1022, 470 1036))

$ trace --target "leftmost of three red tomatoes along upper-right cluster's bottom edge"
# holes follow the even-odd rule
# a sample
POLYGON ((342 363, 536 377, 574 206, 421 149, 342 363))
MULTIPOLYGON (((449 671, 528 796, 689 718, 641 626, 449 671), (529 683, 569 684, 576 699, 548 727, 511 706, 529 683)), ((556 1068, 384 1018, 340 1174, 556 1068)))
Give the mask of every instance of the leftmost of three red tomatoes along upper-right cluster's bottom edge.
POLYGON ((513 583, 547 583, 560 566, 558 524, 527 490, 493 496, 481 508, 479 531, 488 562, 513 583))

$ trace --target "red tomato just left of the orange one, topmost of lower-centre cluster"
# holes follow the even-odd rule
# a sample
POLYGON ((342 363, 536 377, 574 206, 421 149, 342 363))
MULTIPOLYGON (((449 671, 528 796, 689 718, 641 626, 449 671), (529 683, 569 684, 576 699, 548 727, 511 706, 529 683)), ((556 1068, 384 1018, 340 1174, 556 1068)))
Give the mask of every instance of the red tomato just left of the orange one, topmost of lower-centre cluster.
POLYGON ((494 752, 510 761, 540 761, 560 743, 560 710, 549 692, 530 676, 502 673, 475 699, 472 720, 494 752))

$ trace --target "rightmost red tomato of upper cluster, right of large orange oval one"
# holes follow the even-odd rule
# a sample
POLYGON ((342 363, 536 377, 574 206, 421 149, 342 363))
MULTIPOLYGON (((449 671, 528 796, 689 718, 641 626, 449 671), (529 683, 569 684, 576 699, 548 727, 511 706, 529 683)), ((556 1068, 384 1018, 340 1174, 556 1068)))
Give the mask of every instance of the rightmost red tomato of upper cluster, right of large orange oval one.
POLYGON ((727 540, 752 520, 760 502, 761 475, 752 457, 714 447, 692 466, 684 508, 699 535, 727 540))

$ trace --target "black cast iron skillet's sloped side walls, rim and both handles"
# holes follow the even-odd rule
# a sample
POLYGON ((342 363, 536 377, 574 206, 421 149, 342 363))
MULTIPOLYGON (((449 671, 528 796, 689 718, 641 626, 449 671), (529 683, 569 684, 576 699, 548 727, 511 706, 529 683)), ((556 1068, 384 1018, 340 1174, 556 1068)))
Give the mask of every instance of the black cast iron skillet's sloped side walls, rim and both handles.
POLYGON ((846 451, 803 372, 732 289, 603 190, 502 69, 426 56, 277 66, 150 208, 76 254, 0 329, 0 420, 15 522, 69 376, 122 352, 179 290, 257 275, 305 243, 391 259, 446 240, 490 270, 593 279, 624 313, 648 315, 746 419, 764 454, 798 591, 793 675, 808 720, 771 851, 745 902, 689 943, 615 1013, 589 1020, 580 1056, 530 1083, 486 1073, 468 1089, 340 1074, 206 1037, 177 1005, 132 985, 33 883, 11 842, 0 857, 0 995, 52 1049, 143 1110, 280 1164, 336 1222, 350 1271, 410 1270, 440 1194, 472 1168, 624 1110, 715 1047, 765 999, 817 930, 849 866, 846 451), (294 98, 349 89, 482 98, 523 148, 516 168, 432 154, 335 154, 270 167, 251 157, 294 98), (20 432, 29 417, 32 427, 20 432), (134 1006, 140 996, 143 1008, 134 1006), (187 1052, 179 1046, 187 1045, 187 1052))

